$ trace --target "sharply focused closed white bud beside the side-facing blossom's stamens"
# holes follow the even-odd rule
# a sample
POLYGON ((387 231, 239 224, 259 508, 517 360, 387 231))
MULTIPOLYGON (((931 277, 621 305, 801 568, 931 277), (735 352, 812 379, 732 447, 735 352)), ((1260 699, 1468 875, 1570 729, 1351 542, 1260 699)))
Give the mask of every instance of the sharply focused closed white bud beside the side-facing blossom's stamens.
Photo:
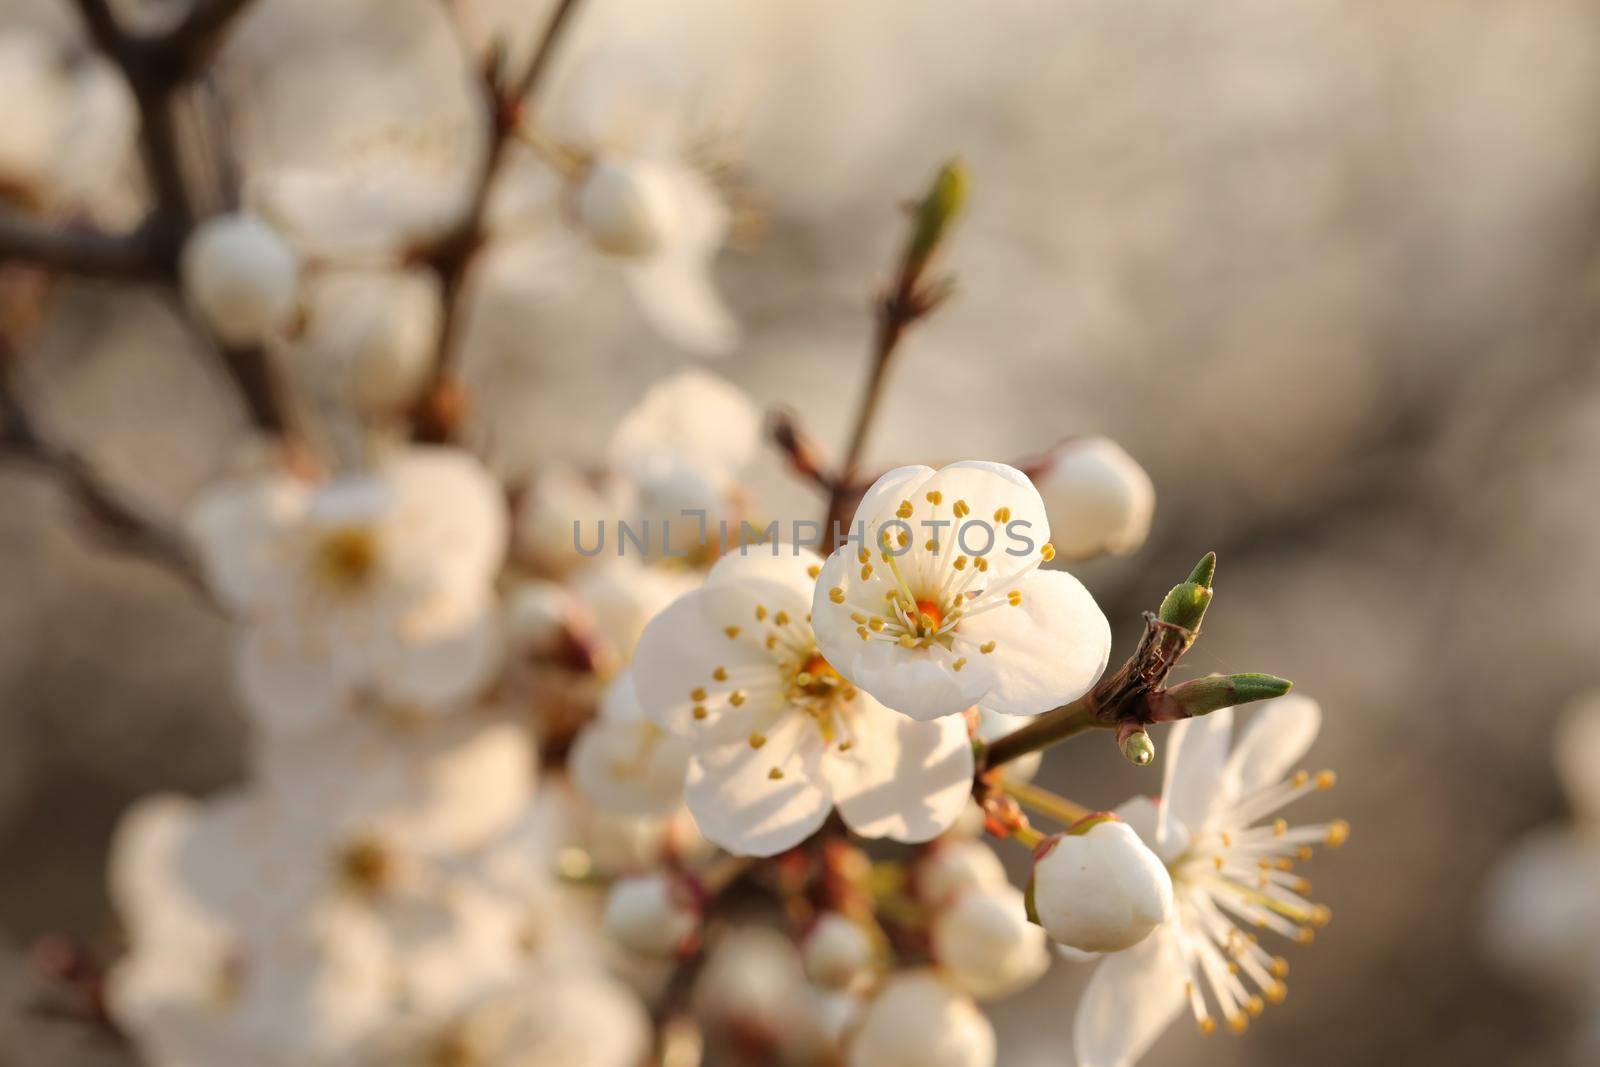
POLYGON ((1029 904, 1054 941, 1082 952, 1122 952, 1173 913, 1166 865, 1115 816, 1053 837, 1040 848, 1029 904))

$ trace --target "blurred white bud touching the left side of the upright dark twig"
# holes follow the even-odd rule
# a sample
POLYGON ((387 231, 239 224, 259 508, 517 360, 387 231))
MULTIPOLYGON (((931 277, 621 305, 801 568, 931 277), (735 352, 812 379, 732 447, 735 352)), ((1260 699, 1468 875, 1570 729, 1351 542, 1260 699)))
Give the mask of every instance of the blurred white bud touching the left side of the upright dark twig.
POLYGON ((341 270, 307 286, 306 355, 363 414, 416 400, 438 347, 443 299, 432 270, 341 270))

